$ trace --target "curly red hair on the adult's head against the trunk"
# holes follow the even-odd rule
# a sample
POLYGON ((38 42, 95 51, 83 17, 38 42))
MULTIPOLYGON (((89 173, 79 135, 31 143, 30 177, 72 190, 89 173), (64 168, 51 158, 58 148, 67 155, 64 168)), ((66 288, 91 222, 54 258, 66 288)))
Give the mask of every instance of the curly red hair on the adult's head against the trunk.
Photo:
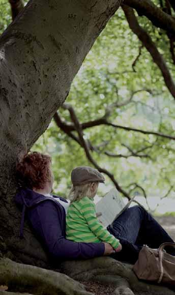
POLYGON ((19 186, 30 189, 43 189, 50 181, 51 157, 38 152, 26 154, 16 166, 19 186))

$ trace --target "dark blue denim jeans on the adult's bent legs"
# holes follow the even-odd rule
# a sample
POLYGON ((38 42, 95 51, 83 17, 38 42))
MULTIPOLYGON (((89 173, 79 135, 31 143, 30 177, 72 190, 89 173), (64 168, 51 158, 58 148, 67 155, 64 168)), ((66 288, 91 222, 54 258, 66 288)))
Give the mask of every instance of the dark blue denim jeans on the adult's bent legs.
MULTIPOLYGON (((124 211, 107 229, 122 244, 122 251, 111 257, 130 263, 135 263, 138 259, 143 245, 159 248, 162 243, 173 243, 162 226, 141 206, 133 206, 124 211)), ((166 250, 175 254, 171 248, 166 250)))

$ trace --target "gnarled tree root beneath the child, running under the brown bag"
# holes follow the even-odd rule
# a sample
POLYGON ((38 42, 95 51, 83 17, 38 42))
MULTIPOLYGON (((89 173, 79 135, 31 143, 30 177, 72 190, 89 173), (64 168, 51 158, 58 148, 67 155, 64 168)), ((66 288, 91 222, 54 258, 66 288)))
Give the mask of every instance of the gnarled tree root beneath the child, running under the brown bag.
POLYGON ((75 280, 113 284, 115 295, 175 294, 173 290, 165 286, 138 280, 132 271, 131 264, 122 263, 110 257, 98 257, 86 261, 66 261, 62 263, 62 271, 75 280))

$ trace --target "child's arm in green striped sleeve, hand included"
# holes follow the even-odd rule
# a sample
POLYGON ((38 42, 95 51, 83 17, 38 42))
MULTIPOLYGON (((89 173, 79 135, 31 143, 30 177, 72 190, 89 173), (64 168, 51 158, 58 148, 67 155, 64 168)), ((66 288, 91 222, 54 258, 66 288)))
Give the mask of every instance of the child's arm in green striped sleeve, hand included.
POLYGON ((96 217, 95 204, 93 200, 88 197, 83 198, 82 214, 88 223, 90 229, 96 237, 106 243, 109 243, 114 249, 118 248, 120 242, 105 229, 96 217))

